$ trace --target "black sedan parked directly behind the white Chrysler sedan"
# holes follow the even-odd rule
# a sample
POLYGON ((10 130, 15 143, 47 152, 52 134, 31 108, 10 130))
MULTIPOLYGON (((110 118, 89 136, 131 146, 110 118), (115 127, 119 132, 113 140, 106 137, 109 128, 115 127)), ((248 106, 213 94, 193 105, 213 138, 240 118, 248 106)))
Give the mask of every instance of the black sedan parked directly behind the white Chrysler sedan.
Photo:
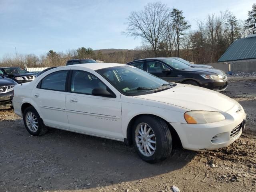
POLYGON ((147 58, 128 65, 140 68, 168 82, 177 82, 223 91, 228 86, 226 74, 218 69, 192 67, 174 58, 147 58))

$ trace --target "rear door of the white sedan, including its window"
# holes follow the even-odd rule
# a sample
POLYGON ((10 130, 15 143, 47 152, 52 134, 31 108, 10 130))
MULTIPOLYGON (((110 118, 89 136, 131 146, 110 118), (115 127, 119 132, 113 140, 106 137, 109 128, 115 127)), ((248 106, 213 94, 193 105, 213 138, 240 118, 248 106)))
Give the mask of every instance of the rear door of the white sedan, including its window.
POLYGON ((39 106, 44 124, 68 129, 66 113, 66 79, 68 70, 48 74, 31 92, 31 98, 39 106))

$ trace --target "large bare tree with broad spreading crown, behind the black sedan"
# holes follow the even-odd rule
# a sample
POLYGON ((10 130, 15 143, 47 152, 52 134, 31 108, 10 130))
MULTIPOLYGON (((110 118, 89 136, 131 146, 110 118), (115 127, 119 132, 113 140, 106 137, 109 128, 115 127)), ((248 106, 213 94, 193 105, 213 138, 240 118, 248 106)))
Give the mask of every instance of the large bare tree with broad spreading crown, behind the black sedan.
POLYGON ((167 18, 166 4, 148 3, 144 10, 130 14, 126 23, 128 27, 123 33, 146 40, 152 46, 154 56, 157 56, 167 18))

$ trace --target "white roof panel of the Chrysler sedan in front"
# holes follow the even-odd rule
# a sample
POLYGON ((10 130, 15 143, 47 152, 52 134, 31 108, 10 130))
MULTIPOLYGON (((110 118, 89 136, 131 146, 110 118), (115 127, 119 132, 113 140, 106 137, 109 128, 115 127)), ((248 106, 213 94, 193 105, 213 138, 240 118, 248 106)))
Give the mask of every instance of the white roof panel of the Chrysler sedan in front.
POLYGON ((84 67, 85 69, 91 69, 91 70, 98 70, 98 69, 104 69, 108 67, 116 67, 116 66, 127 66, 126 64, 119 64, 119 63, 83 63, 83 64, 75 64, 75 65, 67 65, 63 68, 72 68, 72 67, 84 67))

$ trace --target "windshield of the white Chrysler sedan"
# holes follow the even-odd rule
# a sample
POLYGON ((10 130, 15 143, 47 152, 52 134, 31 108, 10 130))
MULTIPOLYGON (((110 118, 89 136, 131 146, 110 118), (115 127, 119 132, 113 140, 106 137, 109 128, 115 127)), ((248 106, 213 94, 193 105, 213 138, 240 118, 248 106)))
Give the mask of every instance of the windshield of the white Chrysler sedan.
POLYGON ((151 93, 158 88, 172 87, 170 83, 134 66, 110 67, 97 72, 120 92, 129 96, 151 93))

